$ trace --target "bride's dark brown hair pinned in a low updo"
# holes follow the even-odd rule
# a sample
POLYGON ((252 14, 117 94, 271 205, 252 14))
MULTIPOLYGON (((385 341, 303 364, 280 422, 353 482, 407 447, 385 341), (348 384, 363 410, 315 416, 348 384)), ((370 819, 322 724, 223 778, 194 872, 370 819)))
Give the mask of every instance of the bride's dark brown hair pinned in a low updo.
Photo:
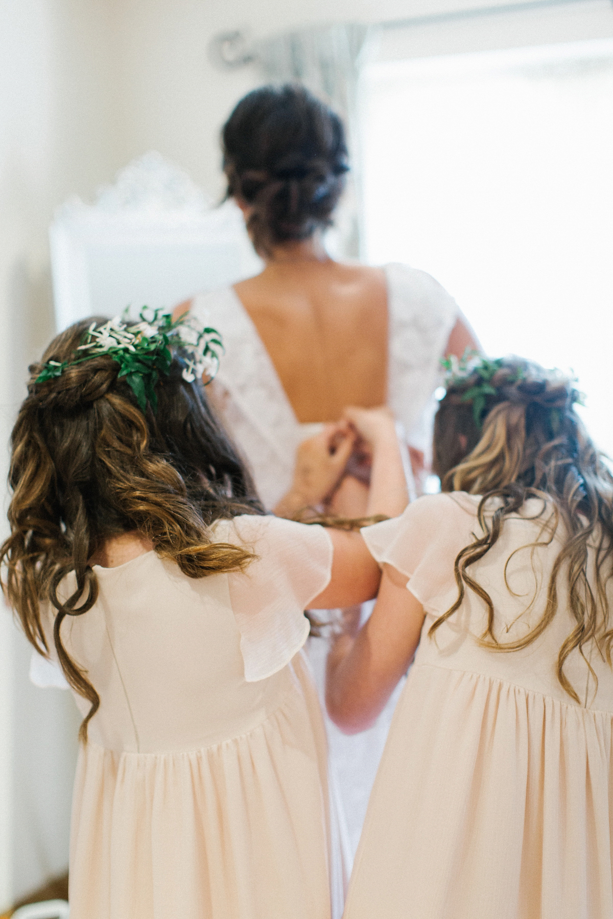
POLYGON ((307 89, 263 86, 248 93, 221 139, 227 194, 253 209, 247 229, 258 252, 331 225, 349 168, 345 130, 307 89))

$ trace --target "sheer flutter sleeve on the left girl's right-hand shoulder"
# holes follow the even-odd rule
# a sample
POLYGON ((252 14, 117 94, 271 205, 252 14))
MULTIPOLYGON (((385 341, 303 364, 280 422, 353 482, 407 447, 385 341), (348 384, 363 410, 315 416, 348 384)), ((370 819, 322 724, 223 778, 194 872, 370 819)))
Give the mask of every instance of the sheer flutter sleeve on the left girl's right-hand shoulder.
POLYGON ((240 516, 216 529, 216 539, 255 553, 242 573, 229 575, 241 633, 244 677, 252 683, 281 670, 309 636, 304 616, 332 573, 332 540, 323 527, 275 516, 240 516))

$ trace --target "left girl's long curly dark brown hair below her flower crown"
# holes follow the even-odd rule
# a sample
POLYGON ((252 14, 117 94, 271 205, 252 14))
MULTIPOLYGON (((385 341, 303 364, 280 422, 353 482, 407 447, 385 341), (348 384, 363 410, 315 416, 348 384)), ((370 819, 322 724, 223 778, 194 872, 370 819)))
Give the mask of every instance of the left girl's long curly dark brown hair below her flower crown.
POLYGON ((222 517, 263 514, 255 487, 221 425, 200 380, 187 382, 176 351, 170 373, 156 385, 157 411, 143 414, 119 365, 107 355, 69 366, 37 383, 42 365, 74 359, 90 323, 75 323, 53 339, 30 368, 28 397, 11 437, 8 508, 11 534, 0 548, 9 604, 34 647, 49 647, 40 605, 57 610, 53 638, 62 670, 75 692, 100 699, 86 672, 62 645, 66 616, 82 616, 96 603, 90 560, 105 539, 137 531, 162 558, 188 577, 240 570, 246 549, 215 542, 211 524, 222 517), (58 588, 74 572, 76 590, 61 600, 58 588))

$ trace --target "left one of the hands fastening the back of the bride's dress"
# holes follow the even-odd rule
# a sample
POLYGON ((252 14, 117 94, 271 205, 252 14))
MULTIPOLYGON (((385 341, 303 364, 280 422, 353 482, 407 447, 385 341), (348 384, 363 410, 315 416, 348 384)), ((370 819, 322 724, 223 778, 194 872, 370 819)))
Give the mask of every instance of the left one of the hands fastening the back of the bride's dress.
POLYGON ((304 507, 322 505, 335 492, 345 472, 356 434, 346 422, 325 425, 321 434, 303 440, 296 453, 291 488, 275 514, 293 516, 304 507))

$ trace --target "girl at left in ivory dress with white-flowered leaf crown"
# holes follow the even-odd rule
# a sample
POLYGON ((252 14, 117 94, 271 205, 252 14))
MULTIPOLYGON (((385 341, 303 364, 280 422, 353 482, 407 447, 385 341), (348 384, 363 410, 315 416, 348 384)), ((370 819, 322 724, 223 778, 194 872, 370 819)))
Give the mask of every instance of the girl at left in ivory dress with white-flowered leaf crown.
MULTIPOLYGON (((329 919, 343 867, 303 610, 380 573, 358 533, 264 515, 200 381, 219 339, 189 323, 76 323, 13 430, 6 593, 84 716, 71 917, 329 919)), ((353 437, 328 433, 338 477, 353 437)), ((380 480, 402 493, 400 453, 371 447, 369 513, 399 513, 380 480)))

